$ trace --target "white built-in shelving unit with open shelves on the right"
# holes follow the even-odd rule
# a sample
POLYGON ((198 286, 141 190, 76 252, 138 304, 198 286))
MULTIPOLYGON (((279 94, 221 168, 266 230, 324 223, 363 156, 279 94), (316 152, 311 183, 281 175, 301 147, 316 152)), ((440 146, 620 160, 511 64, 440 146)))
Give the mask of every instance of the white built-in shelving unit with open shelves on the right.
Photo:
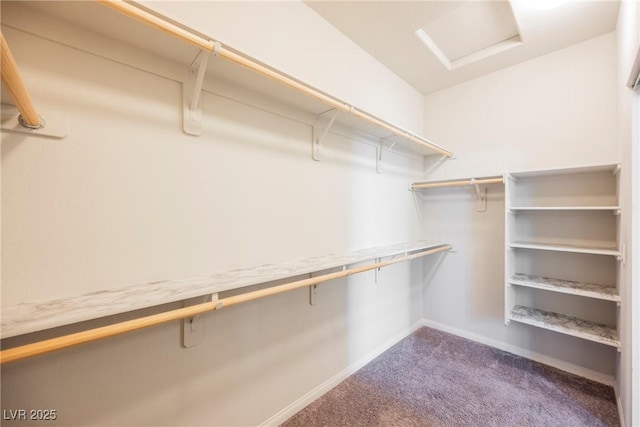
POLYGON ((507 174, 505 323, 619 348, 618 165, 507 174))

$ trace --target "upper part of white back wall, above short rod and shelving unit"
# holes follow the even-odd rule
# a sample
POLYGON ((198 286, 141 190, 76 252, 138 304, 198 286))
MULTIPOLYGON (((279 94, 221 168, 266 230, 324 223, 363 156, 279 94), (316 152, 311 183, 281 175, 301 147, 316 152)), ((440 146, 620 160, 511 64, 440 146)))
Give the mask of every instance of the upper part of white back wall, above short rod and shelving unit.
POLYGON ((429 179, 617 162, 615 36, 425 98, 425 134, 456 159, 429 179))

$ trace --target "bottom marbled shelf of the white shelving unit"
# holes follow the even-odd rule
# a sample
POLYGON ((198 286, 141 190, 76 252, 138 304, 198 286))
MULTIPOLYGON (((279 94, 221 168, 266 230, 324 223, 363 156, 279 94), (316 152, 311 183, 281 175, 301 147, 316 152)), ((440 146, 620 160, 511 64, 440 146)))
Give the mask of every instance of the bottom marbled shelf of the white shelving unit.
POLYGON ((515 322, 537 326, 612 347, 620 347, 620 339, 616 329, 600 323, 522 305, 516 305, 509 318, 515 322))

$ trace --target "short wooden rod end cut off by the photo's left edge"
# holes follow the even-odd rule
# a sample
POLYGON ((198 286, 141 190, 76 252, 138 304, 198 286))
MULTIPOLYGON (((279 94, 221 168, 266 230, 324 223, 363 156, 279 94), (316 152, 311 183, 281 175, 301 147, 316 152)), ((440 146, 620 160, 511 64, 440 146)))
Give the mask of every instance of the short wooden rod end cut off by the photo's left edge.
POLYGON ((2 74, 2 83, 4 83, 7 91, 9 91, 11 98, 13 98, 13 101, 16 103, 16 107, 20 112, 18 120, 20 121, 20 124, 26 128, 38 129, 43 125, 42 119, 31 102, 29 92, 27 92, 24 81, 20 76, 18 65, 16 64, 16 61, 11 54, 11 50, 9 50, 9 45, 1 32, 0 43, 0 63, 2 64, 2 67, 0 67, 0 74, 2 74))

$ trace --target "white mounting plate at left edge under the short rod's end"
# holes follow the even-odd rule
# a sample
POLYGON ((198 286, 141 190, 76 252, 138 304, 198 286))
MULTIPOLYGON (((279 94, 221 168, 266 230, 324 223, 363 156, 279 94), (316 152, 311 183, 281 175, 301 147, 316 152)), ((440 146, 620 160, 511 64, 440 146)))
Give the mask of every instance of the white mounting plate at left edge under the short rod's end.
POLYGON ((39 126, 30 126, 20 116, 18 109, 9 104, 1 106, 1 128, 3 132, 22 133, 49 138, 66 138, 69 135, 69 124, 62 114, 56 111, 46 112, 47 121, 40 116, 39 126))

